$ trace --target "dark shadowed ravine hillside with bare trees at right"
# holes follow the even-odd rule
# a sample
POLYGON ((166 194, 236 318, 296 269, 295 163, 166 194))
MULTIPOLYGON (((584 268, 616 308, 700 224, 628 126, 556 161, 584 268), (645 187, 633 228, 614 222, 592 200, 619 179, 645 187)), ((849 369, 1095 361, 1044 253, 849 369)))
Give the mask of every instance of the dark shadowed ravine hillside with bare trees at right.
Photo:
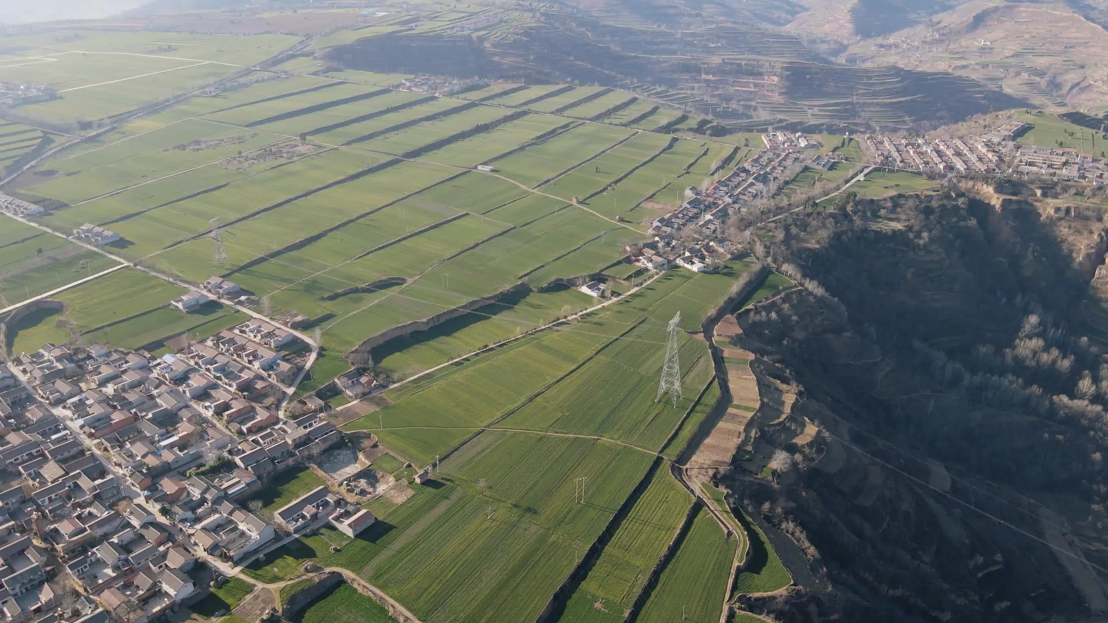
POLYGON ((1086 324, 1102 300, 1089 285, 1104 208, 966 190, 862 200, 773 232, 774 257, 809 280, 738 314, 735 341, 762 362, 763 395, 786 388, 787 412, 820 432, 799 446, 760 423, 737 460, 791 457, 772 463, 774 487, 740 470, 729 487, 792 537, 810 592, 740 596, 746 609, 997 622, 1108 610, 1108 345, 1086 324))

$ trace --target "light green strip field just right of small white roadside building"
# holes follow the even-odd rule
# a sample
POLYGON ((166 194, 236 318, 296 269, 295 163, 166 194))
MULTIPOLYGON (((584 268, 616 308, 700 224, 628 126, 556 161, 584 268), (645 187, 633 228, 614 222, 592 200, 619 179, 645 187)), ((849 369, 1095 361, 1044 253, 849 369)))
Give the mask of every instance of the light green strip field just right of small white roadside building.
POLYGON ((633 133, 630 130, 612 125, 582 125, 521 152, 497 159, 492 164, 501 175, 527 186, 535 186, 615 145, 633 133))

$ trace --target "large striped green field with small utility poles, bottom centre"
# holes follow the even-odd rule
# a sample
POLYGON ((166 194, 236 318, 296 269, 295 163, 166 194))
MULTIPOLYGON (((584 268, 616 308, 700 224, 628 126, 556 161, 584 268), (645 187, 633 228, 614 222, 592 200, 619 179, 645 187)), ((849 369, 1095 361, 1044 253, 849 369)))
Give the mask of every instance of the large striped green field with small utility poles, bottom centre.
POLYGON ((585 439, 484 432, 472 443, 440 468, 460 498, 362 574, 423 620, 532 620, 653 458, 585 439), (583 477, 595 482, 584 504, 572 497, 583 477))

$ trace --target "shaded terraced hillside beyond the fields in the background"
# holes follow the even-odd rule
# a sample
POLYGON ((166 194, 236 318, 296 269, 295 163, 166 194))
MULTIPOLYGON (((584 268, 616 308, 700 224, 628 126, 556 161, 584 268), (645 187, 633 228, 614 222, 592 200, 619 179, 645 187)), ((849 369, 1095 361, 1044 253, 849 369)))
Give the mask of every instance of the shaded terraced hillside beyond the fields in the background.
MULTIPOLYGON (((711 116, 732 130, 784 124, 936 127, 1026 105, 1023 99, 944 71, 835 64, 798 37, 750 28, 712 25, 675 33, 555 16, 525 33, 525 39, 497 43, 496 53, 471 38, 428 33, 377 37, 330 53, 336 61, 362 70, 622 88, 690 115, 711 116), (566 35, 582 31, 588 33, 587 40, 566 35), (541 59, 532 59, 535 45, 544 50, 541 59), (449 60, 444 64, 440 58, 449 60)), ((556 95, 538 110, 558 110, 574 96, 556 95)), ((519 104, 525 95, 509 96, 502 101, 519 104)), ((708 132, 712 123, 707 121, 700 131, 708 132)))

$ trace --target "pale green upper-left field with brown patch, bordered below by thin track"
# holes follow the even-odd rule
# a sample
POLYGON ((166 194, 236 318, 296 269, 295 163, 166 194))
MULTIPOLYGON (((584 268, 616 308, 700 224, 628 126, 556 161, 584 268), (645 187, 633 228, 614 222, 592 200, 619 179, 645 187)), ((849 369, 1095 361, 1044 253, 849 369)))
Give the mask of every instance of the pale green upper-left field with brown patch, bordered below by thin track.
POLYGON ((214 164, 283 140, 264 132, 186 120, 102 150, 52 163, 63 177, 27 188, 69 204, 186 168, 214 164))

